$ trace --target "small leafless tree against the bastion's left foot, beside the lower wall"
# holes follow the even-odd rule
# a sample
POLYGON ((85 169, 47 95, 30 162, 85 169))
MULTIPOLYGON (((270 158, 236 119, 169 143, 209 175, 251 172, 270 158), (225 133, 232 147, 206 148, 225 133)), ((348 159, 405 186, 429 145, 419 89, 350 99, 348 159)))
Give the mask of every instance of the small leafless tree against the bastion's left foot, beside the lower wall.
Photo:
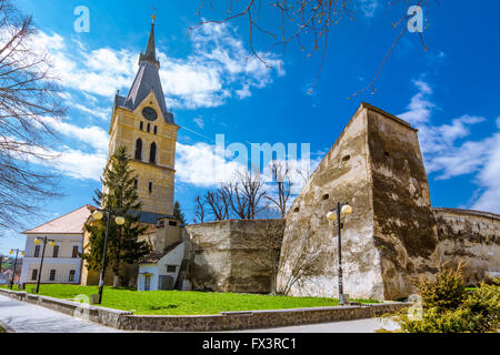
POLYGON ((283 271, 283 280, 278 292, 284 295, 290 293, 294 284, 301 285, 307 278, 318 275, 324 257, 324 251, 310 237, 310 229, 296 243, 293 247, 289 243, 281 248, 279 267, 283 271))

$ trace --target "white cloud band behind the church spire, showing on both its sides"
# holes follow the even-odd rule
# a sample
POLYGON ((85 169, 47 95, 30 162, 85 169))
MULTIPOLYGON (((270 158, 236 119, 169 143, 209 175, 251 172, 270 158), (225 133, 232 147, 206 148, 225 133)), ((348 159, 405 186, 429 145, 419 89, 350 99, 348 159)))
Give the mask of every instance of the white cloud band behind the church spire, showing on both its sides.
MULTIPOLYGON (((251 94, 251 88, 271 83, 273 72, 284 75, 281 60, 259 53, 264 64, 251 57, 227 23, 202 26, 190 39, 192 53, 187 58, 171 58, 157 49, 160 78, 170 105, 219 106, 234 94, 243 99, 251 94), (243 89, 237 88, 240 82, 246 83, 243 89)), ((61 85, 86 95, 111 98, 117 89, 128 90, 138 69, 139 52, 131 49, 90 50, 81 42, 42 31, 33 37, 33 43, 40 52, 51 54, 52 69, 61 85)), ((78 109, 84 111, 81 104, 78 109)), ((94 115, 104 119, 102 111, 94 115)))

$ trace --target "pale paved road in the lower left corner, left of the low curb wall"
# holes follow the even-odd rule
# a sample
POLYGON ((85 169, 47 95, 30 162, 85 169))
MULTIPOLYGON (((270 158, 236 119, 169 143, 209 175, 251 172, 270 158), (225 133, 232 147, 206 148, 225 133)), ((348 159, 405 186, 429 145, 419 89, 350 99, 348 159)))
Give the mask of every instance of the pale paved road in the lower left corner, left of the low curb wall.
POLYGON ((0 321, 16 333, 116 333, 118 329, 0 295, 0 321))

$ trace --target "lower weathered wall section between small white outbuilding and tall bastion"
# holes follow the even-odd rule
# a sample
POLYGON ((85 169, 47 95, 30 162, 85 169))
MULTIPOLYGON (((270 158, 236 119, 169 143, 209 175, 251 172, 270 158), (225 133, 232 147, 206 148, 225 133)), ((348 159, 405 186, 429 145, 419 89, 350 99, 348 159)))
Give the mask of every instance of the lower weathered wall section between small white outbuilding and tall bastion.
POLYGON ((193 290, 269 293, 271 265, 263 262, 269 260, 263 244, 256 243, 266 223, 230 220, 187 225, 191 250, 187 277, 193 290))

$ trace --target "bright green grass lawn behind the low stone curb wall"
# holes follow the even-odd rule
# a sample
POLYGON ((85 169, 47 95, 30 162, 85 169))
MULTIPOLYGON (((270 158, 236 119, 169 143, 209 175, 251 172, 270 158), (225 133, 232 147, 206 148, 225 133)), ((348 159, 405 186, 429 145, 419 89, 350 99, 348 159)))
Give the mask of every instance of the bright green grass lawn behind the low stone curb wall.
MULTIPOLYGON (((33 285, 27 285, 30 291, 33 285)), ((17 287, 16 287, 17 288, 17 287)), ((90 297, 98 293, 98 286, 40 285, 40 294, 58 298, 74 298, 79 294, 90 297)), ((377 303, 371 300, 352 300, 377 303)), ((254 294, 146 291, 104 287, 102 306, 133 311, 134 314, 218 314, 224 311, 257 311, 321 307, 338 305, 338 300, 321 297, 290 297, 254 294)))

